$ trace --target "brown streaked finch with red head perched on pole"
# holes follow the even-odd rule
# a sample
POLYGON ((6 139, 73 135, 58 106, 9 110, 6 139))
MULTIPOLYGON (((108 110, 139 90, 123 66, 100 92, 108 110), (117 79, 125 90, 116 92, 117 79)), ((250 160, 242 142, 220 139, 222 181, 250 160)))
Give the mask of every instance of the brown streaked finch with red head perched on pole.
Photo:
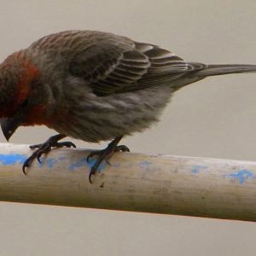
POLYGON ((159 121, 175 91, 209 76, 255 73, 256 65, 184 61, 172 51, 111 32, 70 30, 39 38, 0 64, 0 121, 7 141, 19 126, 46 125, 57 132, 24 162, 73 137, 88 143, 111 141, 91 151, 96 158, 89 181, 103 160, 117 151, 122 137, 159 121))

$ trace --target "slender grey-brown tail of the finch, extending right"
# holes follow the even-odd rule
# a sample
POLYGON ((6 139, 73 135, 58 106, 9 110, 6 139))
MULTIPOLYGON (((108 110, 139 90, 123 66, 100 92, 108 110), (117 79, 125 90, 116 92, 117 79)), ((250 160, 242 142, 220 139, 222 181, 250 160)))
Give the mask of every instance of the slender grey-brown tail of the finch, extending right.
MULTIPOLYGON (((192 64, 192 63, 189 63, 192 64)), ((196 65, 196 63, 194 63, 196 65)), ((192 64, 193 65, 193 64, 192 64)), ((197 77, 216 76, 228 73, 256 73, 256 65, 222 64, 207 65, 195 71, 197 77)))

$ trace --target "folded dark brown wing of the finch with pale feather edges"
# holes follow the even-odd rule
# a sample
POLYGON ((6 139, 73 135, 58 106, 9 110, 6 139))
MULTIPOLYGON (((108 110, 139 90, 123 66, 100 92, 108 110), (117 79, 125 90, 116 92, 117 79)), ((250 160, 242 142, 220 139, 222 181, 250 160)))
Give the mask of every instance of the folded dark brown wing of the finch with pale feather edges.
POLYGON ((166 84, 201 64, 183 61, 153 44, 113 44, 101 41, 73 56, 70 73, 83 78, 94 93, 105 96, 166 84))

